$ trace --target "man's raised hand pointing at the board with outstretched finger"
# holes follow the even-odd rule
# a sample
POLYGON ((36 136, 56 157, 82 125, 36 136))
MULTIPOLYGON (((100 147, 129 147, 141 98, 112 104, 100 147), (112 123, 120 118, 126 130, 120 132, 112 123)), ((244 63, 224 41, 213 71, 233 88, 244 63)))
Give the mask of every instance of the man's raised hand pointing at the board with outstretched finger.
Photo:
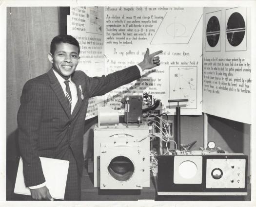
POLYGON ((144 69, 152 69, 156 66, 160 65, 159 56, 156 56, 163 51, 154 52, 152 54, 149 54, 149 49, 147 48, 147 51, 144 55, 144 59, 141 63, 138 64, 138 66, 144 70, 144 69), (155 57, 156 56, 156 57, 155 57))

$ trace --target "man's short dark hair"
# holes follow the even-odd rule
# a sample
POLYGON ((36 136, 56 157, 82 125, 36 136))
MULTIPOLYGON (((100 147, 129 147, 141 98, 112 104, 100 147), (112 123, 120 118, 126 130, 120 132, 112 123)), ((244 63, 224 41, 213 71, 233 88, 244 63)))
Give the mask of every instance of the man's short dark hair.
POLYGON ((56 45, 62 42, 69 43, 71 45, 76 45, 78 47, 78 54, 80 53, 79 42, 75 37, 71 35, 58 35, 58 36, 55 36, 51 42, 51 49, 50 49, 51 54, 54 54, 56 50, 56 45))

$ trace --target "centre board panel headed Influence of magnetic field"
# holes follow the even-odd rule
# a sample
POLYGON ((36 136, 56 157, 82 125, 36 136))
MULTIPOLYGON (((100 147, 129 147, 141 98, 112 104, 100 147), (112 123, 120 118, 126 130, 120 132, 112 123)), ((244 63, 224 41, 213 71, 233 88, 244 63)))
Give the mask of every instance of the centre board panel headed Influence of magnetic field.
POLYGON ((104 43, 106 73, 123 69, 162 50, 161 65, 137 81, 106 95, 118 103, 125 94, 147 92, 160 99, 163 112, 173 115, 181 103, 182 115, 202 112, 202 7, 106 7, 104 43), (189 18, 188 18, 189 17, 189 18))

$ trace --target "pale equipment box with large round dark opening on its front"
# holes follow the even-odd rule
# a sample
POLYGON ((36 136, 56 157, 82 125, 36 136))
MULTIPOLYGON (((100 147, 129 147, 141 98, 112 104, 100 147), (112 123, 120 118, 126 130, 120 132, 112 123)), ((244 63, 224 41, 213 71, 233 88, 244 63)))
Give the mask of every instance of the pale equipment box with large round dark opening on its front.
POLYGON ((95 126, 94 187, 142 189, 150 184, 147 125, 95 126))

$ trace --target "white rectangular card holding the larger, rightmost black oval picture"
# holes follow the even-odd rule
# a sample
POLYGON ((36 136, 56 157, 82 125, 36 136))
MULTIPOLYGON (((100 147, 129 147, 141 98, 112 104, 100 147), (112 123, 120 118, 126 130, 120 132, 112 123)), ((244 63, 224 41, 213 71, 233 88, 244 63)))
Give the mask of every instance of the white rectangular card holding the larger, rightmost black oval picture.
POLYGON ((246 7, 226 10, 226 51, 246 51, 246 7))

